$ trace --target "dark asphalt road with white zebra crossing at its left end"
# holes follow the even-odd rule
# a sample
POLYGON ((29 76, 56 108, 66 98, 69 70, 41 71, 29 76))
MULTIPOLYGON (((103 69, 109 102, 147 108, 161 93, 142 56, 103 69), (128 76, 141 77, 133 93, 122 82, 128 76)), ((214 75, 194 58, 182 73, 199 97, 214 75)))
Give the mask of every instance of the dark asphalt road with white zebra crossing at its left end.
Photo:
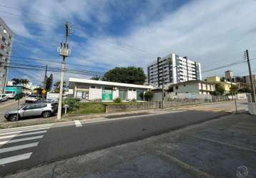
POLYGON ((172 112, 109 122, 0 130, 0 176, 211 120, 224 112, 172 112), (5 142, 7 141, 7 142, 5 142), (19 160, 21 159, 21 160, 19 160), (19 160, 19 161, 17 161, 19 160))

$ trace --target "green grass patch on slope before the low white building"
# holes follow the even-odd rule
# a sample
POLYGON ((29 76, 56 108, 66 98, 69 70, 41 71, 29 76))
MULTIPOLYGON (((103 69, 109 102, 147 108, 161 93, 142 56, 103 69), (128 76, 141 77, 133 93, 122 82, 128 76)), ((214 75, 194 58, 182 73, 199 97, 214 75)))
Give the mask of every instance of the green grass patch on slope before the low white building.
POLYGON ((79 103, 77 110, 71 111, 71 114, 94 114, 104 113, 105 105, 103 103, 79 103))

